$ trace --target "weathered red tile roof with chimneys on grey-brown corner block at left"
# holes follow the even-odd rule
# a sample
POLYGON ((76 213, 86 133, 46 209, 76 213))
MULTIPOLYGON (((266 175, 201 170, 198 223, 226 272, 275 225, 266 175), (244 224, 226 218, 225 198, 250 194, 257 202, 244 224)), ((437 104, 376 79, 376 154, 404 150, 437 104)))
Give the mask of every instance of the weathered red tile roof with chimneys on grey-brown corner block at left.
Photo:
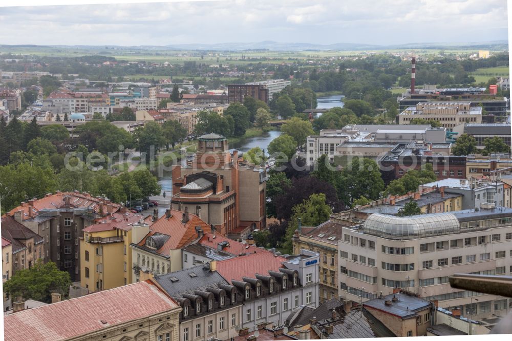
MULTIPOLYGON (((105 201, 103 199, 98 199, 90 194, 87 193, 79 193, 78 191, 75 192, 57 192, 55 194, 49 194, 45 196, 44 198, 35 200, 33 202, 33 216, 37 216, 37 213, 40 209, 43 208, 61 208, 65 205, 65 196, 71 196, 70 197, 70 206, 71 208, 92 208, 95 212, 98 212, 100 210, 100 203, 103 203, 103 212, 107 212, 106 204, 113 205, 112 206, 112 212, 116 212, 121 208, 121 205, 105 201)), ((21 206, 15 207, 11 209, 9 212, 7 212, 7 215, 14 216, 14 213, 18 210, 23 210, 23 220, 29 219, 29 203, 25 203, 21 206)))

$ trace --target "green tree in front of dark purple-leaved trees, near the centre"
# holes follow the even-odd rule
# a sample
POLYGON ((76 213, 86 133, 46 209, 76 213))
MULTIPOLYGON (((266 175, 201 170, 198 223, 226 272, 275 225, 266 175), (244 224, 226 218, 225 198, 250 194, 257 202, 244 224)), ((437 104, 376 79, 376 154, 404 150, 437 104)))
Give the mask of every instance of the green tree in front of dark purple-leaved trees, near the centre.
POLYGON ((304 226, 317 226, 328 221, 332 214, 332 209, 327 204, 326 196, 323 193, 312 194, 302 204, 293 206, 292 211, 293 215, 288 223, 283 243, 283 248, 290 254, 292 253, 292 237, 298 227, 298 219, 301 219, 304 226))

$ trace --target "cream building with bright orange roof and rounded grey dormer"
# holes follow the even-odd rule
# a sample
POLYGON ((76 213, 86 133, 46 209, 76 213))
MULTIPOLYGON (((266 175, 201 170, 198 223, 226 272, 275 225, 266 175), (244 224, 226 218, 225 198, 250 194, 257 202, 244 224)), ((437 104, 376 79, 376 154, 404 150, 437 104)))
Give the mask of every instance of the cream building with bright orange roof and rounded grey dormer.
POLYGON ((167 209, 153 225, 132 225, 132 281, 140 280, 140 272, 168 273, 182 268, 182 248, 210 233, 210 225, 198 215, 167 209))

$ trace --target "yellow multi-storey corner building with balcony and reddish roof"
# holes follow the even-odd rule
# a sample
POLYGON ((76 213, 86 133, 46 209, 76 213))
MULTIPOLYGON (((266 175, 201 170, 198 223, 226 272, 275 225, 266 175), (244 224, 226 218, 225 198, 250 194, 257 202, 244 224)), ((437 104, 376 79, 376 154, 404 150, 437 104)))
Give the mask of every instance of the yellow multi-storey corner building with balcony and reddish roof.
MULTIPOLYGON (((80 286, 89 292, 132 281, 132 225, 142 216, 120 212, 83 229, 80 238, 80 286)), ((148 223, 151 224, 151 221, 148 223)))

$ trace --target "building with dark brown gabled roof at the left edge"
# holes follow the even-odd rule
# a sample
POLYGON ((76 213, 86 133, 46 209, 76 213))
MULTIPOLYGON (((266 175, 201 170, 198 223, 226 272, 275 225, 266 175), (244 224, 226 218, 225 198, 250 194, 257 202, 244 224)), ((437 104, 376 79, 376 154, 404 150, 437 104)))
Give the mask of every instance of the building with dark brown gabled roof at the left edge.
POLYGON ((13 217, 2 217, 2 240, 11 243, 11 276, 18 270, 30 269, 34 263, 45 259, 44 239, 13 217))

